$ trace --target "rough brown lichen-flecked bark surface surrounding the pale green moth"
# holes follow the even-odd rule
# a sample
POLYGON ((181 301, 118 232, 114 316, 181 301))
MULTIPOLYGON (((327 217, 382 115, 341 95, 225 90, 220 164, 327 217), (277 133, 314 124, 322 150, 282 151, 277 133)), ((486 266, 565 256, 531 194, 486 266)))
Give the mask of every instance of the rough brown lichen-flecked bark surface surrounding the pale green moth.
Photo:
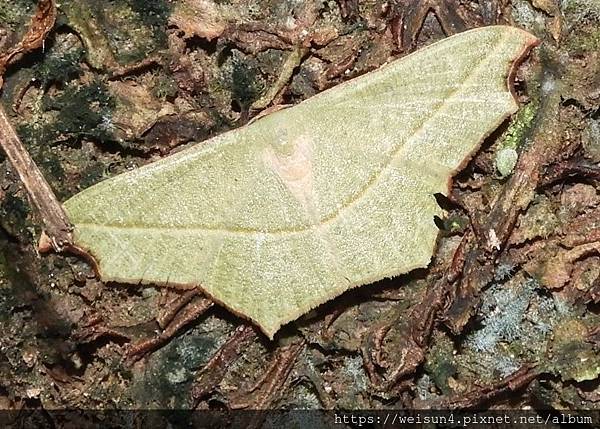
MULTIPOLYGON (((21 40, 36 3, 0 0, 1 52, 21 40)), ((273 104, 297 104, 461 26, 498 23, 542 43, 516 75, 519 111, 455 177, 451 201, 439 199, 430 266, 348 291, 273 342, 213 305, 132 363, 131 349, 179 326, 181 315, 165 321, 194 289, 104 283, 81 258, 39 255, 41 222, 0 153, 0 406, 38 417, 19 427, 60 426, 52 409, 244 402, 600 409, 600 256, 588 246, 600 239, 597 0, 65 0, 45 48, 7 69, 0 102, 65 201, 243 126, 298 46, 308 51, 273 104), (177 8, 186 4, 218 15, 177 8), (502 177, 506 148, 518 160, 502 177), (500 249, 488 250, 490 228, 500 249), (469 323, 450 323, 449 308, 469 323), (290 363, 286 346, 301 339, 290 363)), ((176 414, 147 423, 180 426, 176 414)), ((131 414, 112 416, 122 418, 107 413, 102 424, 131 426, 131 414)))

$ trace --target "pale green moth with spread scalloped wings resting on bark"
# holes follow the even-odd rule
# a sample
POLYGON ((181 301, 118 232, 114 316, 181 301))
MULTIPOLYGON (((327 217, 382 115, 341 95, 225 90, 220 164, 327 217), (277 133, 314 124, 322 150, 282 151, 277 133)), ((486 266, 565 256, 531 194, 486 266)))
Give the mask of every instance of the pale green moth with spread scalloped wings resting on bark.
POLYGON ((434 194, 518 105, 537 44, 449 37, 64 203, 105 281, 200 287, 273 338, 344 291, 425 267, 434 194))

